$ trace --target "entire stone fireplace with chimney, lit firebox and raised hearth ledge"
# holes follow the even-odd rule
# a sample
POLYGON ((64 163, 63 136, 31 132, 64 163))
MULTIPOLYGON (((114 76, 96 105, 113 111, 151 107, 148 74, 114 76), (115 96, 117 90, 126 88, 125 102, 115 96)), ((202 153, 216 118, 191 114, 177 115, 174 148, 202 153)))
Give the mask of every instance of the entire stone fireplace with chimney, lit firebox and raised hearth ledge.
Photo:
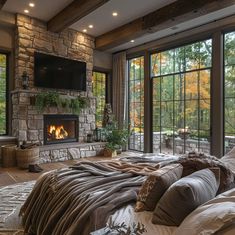
POLYGON ((96 127, 96 98, 92 94, 94 38, 72 29, 52 33, 47 31, 45 22, 20 14, 16 17, 15 35, 15 89, 11 92, 12 135, 17 138, 18 144, 40 143, 40 163, 99 155, 104 143, 86 143, 87 134, 92 133, 96 127), (35 51, 85 62, 86 91, 36 87, 35 51), (29 75, 28 89, 22 87, 24 71, 29 75), (67 99, 87 97, 89 106, 76 117, 61 107, 38 110, 32 100, 35 100, 37 94, 48 91, 55 91, 67 99), (50 135, 48 125, 55 126, 51 127, 50 135), (56 129, 58 135, 64 135, 64 139, 56 137, 56 129))

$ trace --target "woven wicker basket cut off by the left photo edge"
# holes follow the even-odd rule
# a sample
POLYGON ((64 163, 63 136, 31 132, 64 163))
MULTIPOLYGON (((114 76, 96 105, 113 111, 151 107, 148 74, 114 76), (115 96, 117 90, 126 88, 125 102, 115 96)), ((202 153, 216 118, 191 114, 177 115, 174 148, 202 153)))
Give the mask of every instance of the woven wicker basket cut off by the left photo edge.
POLYGON ((7 144, 1 147, 3 167, 16 166, 16 148, 17 148, 17 145, 15 144, 7 144))

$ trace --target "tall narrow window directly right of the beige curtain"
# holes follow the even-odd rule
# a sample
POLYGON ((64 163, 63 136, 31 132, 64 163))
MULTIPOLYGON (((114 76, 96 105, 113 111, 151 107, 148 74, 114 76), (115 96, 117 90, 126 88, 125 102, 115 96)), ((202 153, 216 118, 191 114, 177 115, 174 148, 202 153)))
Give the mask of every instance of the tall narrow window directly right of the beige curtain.
POLYGON ((132 131, 129 149, 144 150, 144 57, 128 61, 129 125, 132 131))

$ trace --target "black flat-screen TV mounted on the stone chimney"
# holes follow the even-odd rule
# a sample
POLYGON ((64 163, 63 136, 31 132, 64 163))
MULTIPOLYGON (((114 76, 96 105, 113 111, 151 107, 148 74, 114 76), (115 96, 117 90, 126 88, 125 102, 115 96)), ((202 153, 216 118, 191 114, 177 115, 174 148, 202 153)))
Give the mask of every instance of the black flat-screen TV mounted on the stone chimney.
POLYGON ((34 85, 86 91, 86 63, 35 52, 34 85))

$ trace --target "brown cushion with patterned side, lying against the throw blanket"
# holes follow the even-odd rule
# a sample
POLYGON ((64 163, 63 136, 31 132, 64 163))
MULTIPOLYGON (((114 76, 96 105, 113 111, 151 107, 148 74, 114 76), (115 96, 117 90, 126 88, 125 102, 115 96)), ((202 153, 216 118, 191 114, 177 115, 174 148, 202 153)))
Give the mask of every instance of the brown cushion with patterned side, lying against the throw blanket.
POLYGON ((135 211, 153 211, 164 192, 181 178, 182 171, 180 164, 172 164, 151 173, 139 191, 135 211))

